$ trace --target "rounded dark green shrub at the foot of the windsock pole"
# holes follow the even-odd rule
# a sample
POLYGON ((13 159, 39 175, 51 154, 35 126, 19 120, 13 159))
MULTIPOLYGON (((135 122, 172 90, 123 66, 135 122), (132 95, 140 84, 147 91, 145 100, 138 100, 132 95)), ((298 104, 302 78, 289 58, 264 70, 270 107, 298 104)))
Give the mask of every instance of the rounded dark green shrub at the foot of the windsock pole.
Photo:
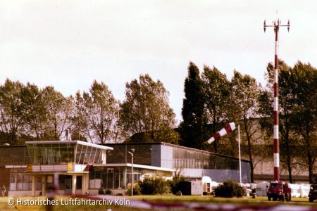
POLYGON ((240 187, 235 181, 224 181, 215 189, 215 196, 218 197, 242 197, 245 195, 244 188, 240 187))

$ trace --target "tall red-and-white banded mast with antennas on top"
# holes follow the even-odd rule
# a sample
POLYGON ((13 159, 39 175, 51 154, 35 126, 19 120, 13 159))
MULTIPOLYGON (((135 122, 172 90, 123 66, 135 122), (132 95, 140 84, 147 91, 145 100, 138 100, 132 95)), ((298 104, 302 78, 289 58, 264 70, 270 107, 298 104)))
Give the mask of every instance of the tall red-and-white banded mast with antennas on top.
POLYGON ((281 25, 280 20, 274 20, 272 25, 266 25, 266 20, 264 20, 264 32, 266 32, 266 27, 273 27, 275 32, 275 59, 274 59, 274 105, 273 105, 273 115, 274 115, 274 180, 280 181, 280 143, 278 140, 278 31, 280 27, 287 27, 287 31, 290 32, 290 20, 288 20, 287 25, 281 25))

